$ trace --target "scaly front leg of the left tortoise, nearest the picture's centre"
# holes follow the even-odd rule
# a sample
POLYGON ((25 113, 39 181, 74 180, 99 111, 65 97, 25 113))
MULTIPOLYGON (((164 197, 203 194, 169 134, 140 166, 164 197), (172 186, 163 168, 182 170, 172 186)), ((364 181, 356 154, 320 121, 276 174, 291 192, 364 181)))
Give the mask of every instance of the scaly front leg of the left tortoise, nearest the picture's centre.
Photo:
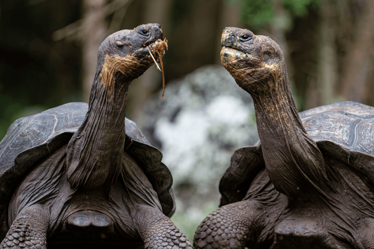
POLYGON ((137 226, 144 241, 144 249, 193 249, 187 237, 160 210, 142 206, 137 226))

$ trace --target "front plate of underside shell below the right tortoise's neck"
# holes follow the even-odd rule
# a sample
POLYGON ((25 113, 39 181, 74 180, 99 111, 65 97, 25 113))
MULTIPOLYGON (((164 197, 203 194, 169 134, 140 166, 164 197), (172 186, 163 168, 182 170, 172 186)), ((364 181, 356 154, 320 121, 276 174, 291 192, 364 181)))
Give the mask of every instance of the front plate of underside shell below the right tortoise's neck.
POLYGON ((314 220, 285 219, 274 230, 274 249, 341 249, 314 220))

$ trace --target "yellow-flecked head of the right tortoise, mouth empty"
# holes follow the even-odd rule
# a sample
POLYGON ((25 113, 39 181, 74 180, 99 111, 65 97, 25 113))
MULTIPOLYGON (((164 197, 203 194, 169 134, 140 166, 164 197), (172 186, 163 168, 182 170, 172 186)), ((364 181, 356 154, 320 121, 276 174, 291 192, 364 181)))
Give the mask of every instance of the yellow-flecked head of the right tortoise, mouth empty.
POLYGON ((222 34, 221 45, 222 64, 237 84, 251 94, 273 88, 275 79, 287 75, 283 52, 268 36, 228 27, 222 34))

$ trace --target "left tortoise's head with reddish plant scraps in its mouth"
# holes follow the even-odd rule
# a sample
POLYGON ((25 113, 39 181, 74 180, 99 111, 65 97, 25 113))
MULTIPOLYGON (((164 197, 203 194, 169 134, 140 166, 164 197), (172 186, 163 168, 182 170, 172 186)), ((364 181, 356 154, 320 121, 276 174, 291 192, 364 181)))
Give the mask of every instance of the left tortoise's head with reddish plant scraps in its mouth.
POLYGON ((162 38, 161 26, 157 23, 143 24, 108 36, 98 51, 101 77, 118 72, 130 80, 139 77, 154 63, 148 47, 161 54, 165 52, 167 46, 159 45, 160 41, 166 43, 162 38))

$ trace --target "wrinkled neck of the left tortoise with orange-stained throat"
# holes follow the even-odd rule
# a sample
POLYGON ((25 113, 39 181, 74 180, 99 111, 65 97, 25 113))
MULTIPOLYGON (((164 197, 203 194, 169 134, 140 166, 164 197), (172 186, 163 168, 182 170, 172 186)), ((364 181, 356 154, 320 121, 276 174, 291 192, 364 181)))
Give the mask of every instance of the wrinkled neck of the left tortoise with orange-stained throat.
POLYGON ((120 173, 128 89, 148 68, 131 56, 99 56, 86 118, 67 149, 71 188, 109 192, 120 173))

